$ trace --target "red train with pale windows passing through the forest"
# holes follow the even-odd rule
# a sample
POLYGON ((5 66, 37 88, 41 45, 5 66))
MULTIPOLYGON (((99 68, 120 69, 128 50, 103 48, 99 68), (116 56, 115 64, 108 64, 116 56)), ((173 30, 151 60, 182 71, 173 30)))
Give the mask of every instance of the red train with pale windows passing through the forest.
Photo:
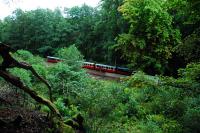
MULTIPOLYGON (((64 60, 53 56, 47 56, 47 62, 49 63, 58 63, 62 61, 64 60)), ((116 73, 127 76, 132 74, 131 70, 126 67, 110 66, 92 62, 83 62, 82 68, 101 71, 101 72, 116 73)))

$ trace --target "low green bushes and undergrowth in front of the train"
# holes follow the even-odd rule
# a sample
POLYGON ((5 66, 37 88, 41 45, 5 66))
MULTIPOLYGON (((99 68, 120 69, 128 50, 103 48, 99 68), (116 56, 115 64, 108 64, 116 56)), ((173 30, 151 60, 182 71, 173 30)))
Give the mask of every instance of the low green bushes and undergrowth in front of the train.
MULTIPOLYGON (((81 69, 83 58, 74 45, 60 49, 57 55, 66 60, 46 64, 42 58, 24 50, 19 50, 15 57, 33 64, 40 75, 48 79, 53 87, 54 103, 66 121, 82 114, 87 132, 200 131, 199 63, 179 69, 177 79, 137 72, 117 83, 90 78, 81 69), (68 62, 69 56, 77 62, 68 62)), ((48 97, 47 88, 29 72, 21 69, 11 72, 48 97)), ((26 103, 35 104, 34 101, 26 103)), ((48 108, 42 107, 42 111, 48 108)))

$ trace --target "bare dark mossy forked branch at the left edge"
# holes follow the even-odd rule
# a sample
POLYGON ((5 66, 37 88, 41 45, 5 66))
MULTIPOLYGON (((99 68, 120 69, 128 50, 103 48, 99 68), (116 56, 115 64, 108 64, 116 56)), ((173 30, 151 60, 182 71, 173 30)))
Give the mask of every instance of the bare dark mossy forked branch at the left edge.
POLYGON ((16 77, 12 74, 10 74, 7 69, 18 67, 23 68, 25 70, 30 70, 33 75, 35 75, 40 81, 42 81, 44 84, 47 85, 50 93, 50 99, 52 100, 52 93, 51 93, 51 87, 48 84, 48 82, 43 79, 39 74, 33 69, 33 67, 27 63, 21 63, 15 60, 11 55, 10 52, 12 51, 12 48, 8 45, 5 45, 3 43, 0 43, 0 55, 3 58, 3 62, 0 65, 0 76, 4 78, 7 82, 11 83, 12 85, 20 88, 24 92, 28 93, 35 101, 44 104, 49 107, 49 109, 60 117, 59 111, 54 107, 53 103, 45 98, 40 97, 35 91, 31 90, 29 87, 25 86, 23 82, 20 80, 19 77, 16 77))

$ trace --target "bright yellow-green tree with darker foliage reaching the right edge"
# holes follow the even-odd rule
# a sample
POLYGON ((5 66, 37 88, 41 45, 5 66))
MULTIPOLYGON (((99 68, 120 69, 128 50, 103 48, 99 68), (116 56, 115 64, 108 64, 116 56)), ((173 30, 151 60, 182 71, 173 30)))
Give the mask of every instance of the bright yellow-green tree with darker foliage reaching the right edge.
POLYGON ((150 74, 173 74, 172 67, 184 64, 181 57, 185 63, 199 61, 199 12, 194 8, 199 3, 193 3, 125 0, 119 11, 130 27, 128 33, 119 35, 116 48, 133 68, 150 74))

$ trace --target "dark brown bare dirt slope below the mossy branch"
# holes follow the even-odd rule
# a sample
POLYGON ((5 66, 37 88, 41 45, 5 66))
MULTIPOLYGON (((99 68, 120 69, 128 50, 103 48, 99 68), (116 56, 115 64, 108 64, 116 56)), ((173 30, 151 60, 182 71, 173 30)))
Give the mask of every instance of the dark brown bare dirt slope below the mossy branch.
POLYGON ((10 85, 1 84, 0 133, 46 133, 51 127, 46 114, 23 106, 23 97, 10 85))

